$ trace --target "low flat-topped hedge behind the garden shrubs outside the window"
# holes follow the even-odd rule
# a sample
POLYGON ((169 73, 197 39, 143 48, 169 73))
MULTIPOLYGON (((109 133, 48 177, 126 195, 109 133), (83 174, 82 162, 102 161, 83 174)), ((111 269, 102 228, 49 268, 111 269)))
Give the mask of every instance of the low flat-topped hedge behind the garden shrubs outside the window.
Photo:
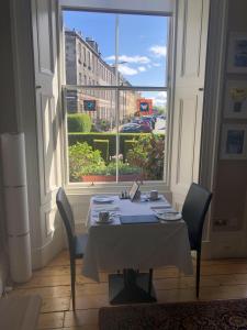
MULTIPOLYGON (((120 133, 120 154, 124 154, 124 142, 126 140, 135 140, 141 135, 149 135, 150 133, 120 133)), ((157 134, 165 139, 165 134, 157 134)), ((74 145, 77 142, 87 142, 93 147, 93 140, 108 140, 109 141, 109 155, 114 156, 116 154, 116 133, 69 133, 68 144, 74 145)))

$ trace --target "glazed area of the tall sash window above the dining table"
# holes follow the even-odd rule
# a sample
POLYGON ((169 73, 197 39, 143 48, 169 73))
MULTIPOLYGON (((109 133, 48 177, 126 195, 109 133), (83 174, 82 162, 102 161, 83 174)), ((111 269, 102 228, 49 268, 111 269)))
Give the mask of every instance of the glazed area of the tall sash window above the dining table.
MULTIPOLYGON (((69 182, 83 184, 89 174, 94 175, 96 182, 105 183, 110 174, 115 183, 166 180, 169 18, 81 11, 80 20, 71 23, 76 15, 78 11, 64 11, 70 33, 74 29, 85 31, 87 16, 87 22, 91 22, 87 24, 89 36, 96 34, 94 42, 104 55, 99 52, 96 57, 85 43, 83 61, 89 70, 83 70, 83 81, 79 74, 79 85, 91 88, 78 88, 76 112, 83 109, 87 124, 82 125, 82 132, 68 132, 69 182), (114 26, 114 22, 119 23, 114 26), (130 26, 136 29, 130 31, 130 26), (102 35, 109 35, 108 40, 102 35)), ((67 72, 78 72, 77 67, 66 65, 67 72)), ((69 85, 66 88, 69 90, 69 85)), ((67 110, 71 109, 69 101, 67 110)), ((69 113, 67 118, 74 120, 69 113)))

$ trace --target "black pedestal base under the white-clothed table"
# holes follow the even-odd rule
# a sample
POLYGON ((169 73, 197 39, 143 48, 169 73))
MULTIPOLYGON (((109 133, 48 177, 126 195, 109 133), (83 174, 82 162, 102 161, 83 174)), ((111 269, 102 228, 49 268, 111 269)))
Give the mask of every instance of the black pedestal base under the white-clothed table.
POLYGON ((157 301, 149 274, 134 270, 109 275, 109 297, 111 305, 157 301))

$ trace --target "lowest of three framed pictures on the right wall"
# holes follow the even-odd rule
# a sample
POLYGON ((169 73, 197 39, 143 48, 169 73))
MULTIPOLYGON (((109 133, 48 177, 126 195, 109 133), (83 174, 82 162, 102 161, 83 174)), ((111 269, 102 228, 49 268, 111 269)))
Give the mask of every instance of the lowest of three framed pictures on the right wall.
POLYGON ((247 124, 223 124, 221 158, 247 158, 247 124))

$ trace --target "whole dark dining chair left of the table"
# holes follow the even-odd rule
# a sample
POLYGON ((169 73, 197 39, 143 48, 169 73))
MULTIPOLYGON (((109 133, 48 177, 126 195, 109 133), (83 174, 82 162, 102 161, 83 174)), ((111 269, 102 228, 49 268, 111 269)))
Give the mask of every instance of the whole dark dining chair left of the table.
POLYGON ((75 283, 76 283, 76 260, 82 258, 85 253, 85 248, 87 244, 87 234, 77 235, 75 233, 75 221, 71 207, 69 205, 68 198, 63 188, 59 188, 56 195, 56 204, 63 222, 66 228, 68 245, 69 245, 69 256, 70 256, 70 280, 71 280, 71 295, 72 295, 72 309, 76 308, 75 301, 75 283))

